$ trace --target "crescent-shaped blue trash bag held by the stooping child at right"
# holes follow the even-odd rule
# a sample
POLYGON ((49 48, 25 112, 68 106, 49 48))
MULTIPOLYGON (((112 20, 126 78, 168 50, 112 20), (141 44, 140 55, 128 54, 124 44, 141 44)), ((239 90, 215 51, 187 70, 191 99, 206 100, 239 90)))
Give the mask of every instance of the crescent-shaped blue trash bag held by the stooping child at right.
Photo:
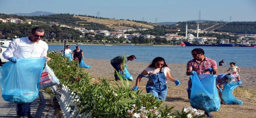
POLYGON ((235 98, 232 94, 233 90, 238 86, 239 84, 236 81, 231 81, 231 83, 224 86, 221 97, 227 104, 243 105, 243 101, 235 98))

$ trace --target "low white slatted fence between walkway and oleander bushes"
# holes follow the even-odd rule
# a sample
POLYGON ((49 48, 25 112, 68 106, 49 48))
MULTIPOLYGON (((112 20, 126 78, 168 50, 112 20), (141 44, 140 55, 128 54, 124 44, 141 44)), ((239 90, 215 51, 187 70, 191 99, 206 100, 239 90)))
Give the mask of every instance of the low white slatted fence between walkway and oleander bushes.
POLYGON ((65 118, 89 118, 89 115, 79 113, 79 108, 76 102, 79 101, 79 96, 75 95, 68 86, 51 86, 53 92, 56 94, 56 98, 62 109, 63 116, 65 118))

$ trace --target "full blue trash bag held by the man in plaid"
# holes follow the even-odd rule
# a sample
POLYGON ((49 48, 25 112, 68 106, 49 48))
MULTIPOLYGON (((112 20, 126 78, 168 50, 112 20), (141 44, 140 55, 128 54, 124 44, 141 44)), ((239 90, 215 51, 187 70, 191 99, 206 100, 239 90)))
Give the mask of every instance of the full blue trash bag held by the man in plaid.
POLYGON ((190 75, 192 79, 190 105, 193 108, 206 112, 219 110, 220 99, 216 88, 216 77, 217 75, 211 74, 190 75))

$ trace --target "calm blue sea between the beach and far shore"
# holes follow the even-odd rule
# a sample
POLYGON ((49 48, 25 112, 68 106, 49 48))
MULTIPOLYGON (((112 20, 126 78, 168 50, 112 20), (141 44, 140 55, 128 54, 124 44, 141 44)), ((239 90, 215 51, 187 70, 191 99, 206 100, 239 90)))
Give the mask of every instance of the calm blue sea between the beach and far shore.
MULTIPOLYGON (((77 45, 70 45, 75 50, 77 45)), ((256 67, 255 47, 190 47, 190 46, 105 46, 79 45, 84 57, 111 60, 116 56, 135 55, 137 62, 151 62, 155 57, 163 57, 167 63, 186 64, 193 59, 191 50, 204 49, 205 56, 214 59, 217 64, 225 59, 225 63, 235 62, 238 67, 256 67)), ((63 45, 49 45, 48 51, 60 51, 63 45)))

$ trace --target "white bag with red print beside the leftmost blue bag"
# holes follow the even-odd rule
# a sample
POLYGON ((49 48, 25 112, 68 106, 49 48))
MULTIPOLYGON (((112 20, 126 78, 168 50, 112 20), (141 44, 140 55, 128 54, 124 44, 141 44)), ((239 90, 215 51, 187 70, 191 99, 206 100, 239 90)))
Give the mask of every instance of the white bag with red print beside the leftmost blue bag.
POLYGON ((44 89, 59 84, 60 81, 55 76, 53 70, 45 63, 45 68, 41 74, 41 79, 39 82, 39 89, 44 89))

